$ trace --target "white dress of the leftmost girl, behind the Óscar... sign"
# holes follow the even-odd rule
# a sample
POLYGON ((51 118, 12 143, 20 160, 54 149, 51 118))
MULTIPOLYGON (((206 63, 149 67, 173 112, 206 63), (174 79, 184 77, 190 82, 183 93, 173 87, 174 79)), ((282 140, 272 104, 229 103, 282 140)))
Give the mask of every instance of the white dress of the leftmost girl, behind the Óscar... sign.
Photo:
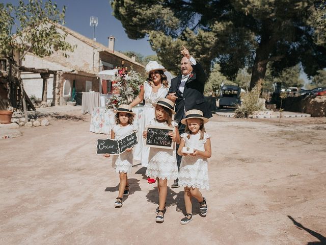
MULTIPOLYGON (((115 125, 112 128, 115 139, 123 139, 127 135, 136 131, 132 125, 127 125, 125 127, 120 127, 120 125, 115 125)), ((116 173, 124 172, 131 173, 132 168, 132 151, 123 152, 119 155, 113 155, 112 166, 116 168, 116 173)))

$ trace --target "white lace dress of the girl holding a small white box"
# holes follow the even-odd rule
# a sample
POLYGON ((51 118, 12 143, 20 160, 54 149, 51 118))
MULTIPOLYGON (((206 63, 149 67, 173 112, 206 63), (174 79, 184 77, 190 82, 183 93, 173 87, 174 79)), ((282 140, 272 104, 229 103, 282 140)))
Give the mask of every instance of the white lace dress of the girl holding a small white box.
MULTIPOLYGON (((205 151, 204 144, 210 138, 208 134, 204 133, 204 139, 201 140, 199 139, 200 133, 191 134, 189 139, 187 139, 187 136, 187 133, 181 134, 186 147, 205 151)), ((208 190, 207 158, 183 156, 180 164, 179 185, 208 190)))

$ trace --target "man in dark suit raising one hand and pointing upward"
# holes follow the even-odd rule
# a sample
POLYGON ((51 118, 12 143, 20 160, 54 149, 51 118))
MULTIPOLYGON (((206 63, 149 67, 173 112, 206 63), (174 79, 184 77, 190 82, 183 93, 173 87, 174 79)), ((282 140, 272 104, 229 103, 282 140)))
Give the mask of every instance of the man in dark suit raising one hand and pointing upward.
MULTIPOLYGON (((204 99, 204 87, 207 80, 202 66, 189 54, 189 51, 182 46, 181 73, 182 75, 172 79, 167 99, 175 103, 174 120, 179 124, 180 135, 184 133, 185 125, 181 124, 185 112, 198 109, 203 112, 204 117, 210 118, 212 114, 204 99)), ((179 145, 177 144, 176 151, 179 145)), ((178 169, 180 168, 182 156, 177 154, 178 169)), ((179 187, 178 180, 171 186, 179 187)))

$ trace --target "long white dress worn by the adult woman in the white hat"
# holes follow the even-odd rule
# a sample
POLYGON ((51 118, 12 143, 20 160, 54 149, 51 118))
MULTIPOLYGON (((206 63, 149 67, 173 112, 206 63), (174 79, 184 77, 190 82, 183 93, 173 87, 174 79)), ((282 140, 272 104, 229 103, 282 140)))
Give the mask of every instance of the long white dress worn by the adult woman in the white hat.
MULTIPOLYGON (((153 104, 155 104, 159 98, 164 98, 168 94, 169 88, 165 88, 162 85, 158 91, 154 93, 152 91, 152 86, 146 81, 144 83, 144 90, 145 105, 138 124, 138 139, 143 139, 143 131, 145 131, 146 125, 150 120, 155 118, 155 108, 153 107, 153 104)), ((141 160, 143 167, 147 167, 149 147, 145 146, 145 140, 139 141, 140 143, 134 148, 133 155, 135 159, 141 160)))

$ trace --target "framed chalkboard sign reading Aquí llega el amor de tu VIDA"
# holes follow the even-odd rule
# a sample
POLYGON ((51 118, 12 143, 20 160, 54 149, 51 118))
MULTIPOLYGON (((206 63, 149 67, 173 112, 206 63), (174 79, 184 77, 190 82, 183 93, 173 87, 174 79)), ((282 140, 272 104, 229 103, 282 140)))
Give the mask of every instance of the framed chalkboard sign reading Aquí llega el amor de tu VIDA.
POLYGON ((168 135, 173 128, 147 126, 146 146, 163 149, 173 149, 172 138, 168 135))

